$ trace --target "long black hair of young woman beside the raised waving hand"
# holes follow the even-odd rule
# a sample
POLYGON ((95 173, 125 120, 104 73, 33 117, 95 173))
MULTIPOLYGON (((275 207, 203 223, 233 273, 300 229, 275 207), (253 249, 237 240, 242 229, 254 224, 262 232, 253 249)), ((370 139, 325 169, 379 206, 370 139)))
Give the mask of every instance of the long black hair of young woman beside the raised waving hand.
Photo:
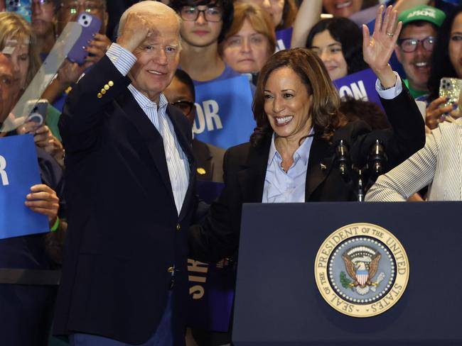
POLYGON ((318 21, 311 28, 306 39, 306 48, 313 46, 314 35, 328 30, 332 38, 342 45, 342 53, 347 63, 348 74, 352 74, 369 66, 362 58, 362 33, 355 22, 348 18, 335 17, 318 21))

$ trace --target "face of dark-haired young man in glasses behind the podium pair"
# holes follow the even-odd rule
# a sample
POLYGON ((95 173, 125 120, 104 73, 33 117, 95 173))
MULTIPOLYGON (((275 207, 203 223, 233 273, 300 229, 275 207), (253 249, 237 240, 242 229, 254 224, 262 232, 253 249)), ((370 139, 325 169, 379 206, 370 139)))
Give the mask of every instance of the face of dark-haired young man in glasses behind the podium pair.
MULTIPOLYGON (((191 11, 193 9, 198 10, 208 10, 213 9, 214 7, 208 6, 188 6, 191 11)), ((220 11, 222 9, 220 8, 220 11)), ((183 16, 182 16, 183 18, 183 16)), ((198 18, 195 21, 186 21, 183 18, 181 22, 181 38, 183 41, 194 47, 208 47, 213 43, 217 43, 218 36, 220 36, 220 31, 223 26, 222 19, 217 22, 208 21, 205 18, 204 12, 198 13, 198 18)))

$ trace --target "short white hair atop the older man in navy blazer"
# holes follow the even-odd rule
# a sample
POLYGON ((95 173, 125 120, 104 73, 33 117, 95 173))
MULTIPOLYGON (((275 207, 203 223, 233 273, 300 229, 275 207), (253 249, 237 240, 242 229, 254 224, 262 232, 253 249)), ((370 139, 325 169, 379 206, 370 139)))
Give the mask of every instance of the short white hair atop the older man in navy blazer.
MULTIPOLYGON (((141 15, 153 16, 154 18, 159 18, 161 21, 177 21, 179 35, 181 18, 173 9, 162 4, 160 1, 141 1, 134 4, 133 6, 130 6, 124 13, 122 13, 119 21, 119 31, 117 32, 117 36, 122 34, 129 13, 139 13, 141 15)), ((161 21, 159 21, 159 23, 161 23, 161 21)))

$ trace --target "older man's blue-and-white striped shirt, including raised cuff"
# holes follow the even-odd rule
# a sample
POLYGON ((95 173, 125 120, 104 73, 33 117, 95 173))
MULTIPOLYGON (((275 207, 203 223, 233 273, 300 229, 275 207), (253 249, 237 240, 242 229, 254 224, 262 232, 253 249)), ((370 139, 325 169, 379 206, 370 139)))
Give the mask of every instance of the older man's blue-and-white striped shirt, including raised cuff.
MULTIPOLYGON (((117 43, 112 43, 106 55, 124 76, 127 76, 131 67, 136 62, 136 57, 128 50, 117 45, 117 43)), ((176 138, 173 123, 171 123, 170 118, 166 114, 168 101, 163 94, 160 94, 158 106, 144 94, 141 94, 132 84, 128 86, 128 89, 149 118, 149 121, 153 123, 162 136, 168 176, 170 177, 176 211, 179 214, 181 206, 183 206, 186 191, 188 190, 190 170, 188 157, 183 152, 178 138, 176 138)))

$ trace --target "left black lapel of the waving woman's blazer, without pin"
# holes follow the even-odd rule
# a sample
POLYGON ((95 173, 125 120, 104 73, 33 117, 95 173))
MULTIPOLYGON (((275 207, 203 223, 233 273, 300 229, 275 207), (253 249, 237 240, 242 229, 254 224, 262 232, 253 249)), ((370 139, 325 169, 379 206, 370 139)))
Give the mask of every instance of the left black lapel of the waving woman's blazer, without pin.
POLYGON ((262 202, 270 144, 271 138, 258 148, 249 147, 247 160, 242 165, 243 169, 237 173, 244 203, 262 202))

